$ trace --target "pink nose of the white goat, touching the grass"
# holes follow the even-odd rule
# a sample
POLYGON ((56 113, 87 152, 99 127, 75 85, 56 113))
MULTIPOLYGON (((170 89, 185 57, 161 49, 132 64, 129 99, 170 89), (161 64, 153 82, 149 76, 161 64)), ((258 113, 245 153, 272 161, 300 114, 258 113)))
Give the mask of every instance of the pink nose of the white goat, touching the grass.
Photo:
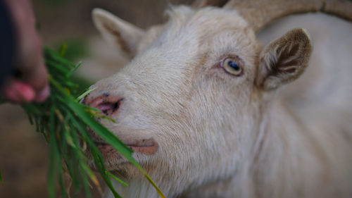
POLYGON ((90 98, 87 96, 83 103, 92 106, 95 109, 99 109, 106 116, 112 116, 115 112, 120 109, 123 98, 113 96, 111 94, 102 94, 99 97, 90 98))

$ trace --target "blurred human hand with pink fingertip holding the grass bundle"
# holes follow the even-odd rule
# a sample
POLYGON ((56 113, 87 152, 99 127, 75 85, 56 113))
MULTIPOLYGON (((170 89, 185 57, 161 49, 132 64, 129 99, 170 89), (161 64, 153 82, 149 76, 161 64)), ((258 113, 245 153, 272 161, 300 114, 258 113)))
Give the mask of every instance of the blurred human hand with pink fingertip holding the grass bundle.
POLYGON ((35 30, 29 0, 5 0, 17 33, 15 66, 20 78, 11 77, 4 87, 4 97, 13 103, 42 102, 49 96, 48 74, 42 55, 42 39, 35 30))

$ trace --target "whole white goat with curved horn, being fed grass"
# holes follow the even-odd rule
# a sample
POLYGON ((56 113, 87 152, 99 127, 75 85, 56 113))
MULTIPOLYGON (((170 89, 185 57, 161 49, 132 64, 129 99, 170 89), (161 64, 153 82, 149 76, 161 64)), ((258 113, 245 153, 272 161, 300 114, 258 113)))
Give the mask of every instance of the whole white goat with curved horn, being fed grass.
MULTIPOLYGON (((351 84, 344 94, 326 87, 291 102, 278 91, 308 66, 308 33, 294 29, 265 47, 255 35, 309 11, 352 20, 348 1, 235 0, 171 8, 168 23, 145 32, 96 9, 103 37, 134 58, 84 102, 116 120, 104 124, 167 197, 352 197, 351 84)), ((94 139, 108 169, 129 184, 115 184, 122 197, 158 197, 137 168, 94 139)))

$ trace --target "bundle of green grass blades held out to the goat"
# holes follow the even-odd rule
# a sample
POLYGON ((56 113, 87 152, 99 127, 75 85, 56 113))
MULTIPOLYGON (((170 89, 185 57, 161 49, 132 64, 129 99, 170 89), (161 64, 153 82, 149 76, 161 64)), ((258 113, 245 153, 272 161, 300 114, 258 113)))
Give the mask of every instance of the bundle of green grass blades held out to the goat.
POLYGON ((65 190, 64 173, 68 173, 75 191, 78 192, 83 189, 87 197, 91 196, 89 180, 100 189, 96 175, 89 168, 89 163, 95 164, 96 171, 101 174, 115 197, 120 197, 120 195, 114 190, 110 178, 127 185, 106 171, 103 157, 94 142, 92 142, 91 137, 89 137, 87 128, 94 130, 97 135, 108 142, 108 144, 111 144, 122 156, 125 156, 134 166, 139 168, 156 188, 160 196, 164 197, 153 180, 132 158, 132 149, 126 147, 115 135, 101 125, 94 116, 104 118, 106 121, 113 120, 101 116, 98 109, 79 103, 80 99, 92 90, 84 92, 77 99, 73 97, 73 94, 77 92, 78 85, 70 80, 70 76, 80 64, 75 66, 63 58, 63 51, 58 54, 46 48, 44 49, 44 54, 49 71, 51 94, 43 104, 24 104, 23 109, 30 118, 30 123, 36 126, 37 132, 41 132, 49 143, 49 197, 55 197, 57 182, 60 185, 61 196, 68 197, 68 191, 65 190))

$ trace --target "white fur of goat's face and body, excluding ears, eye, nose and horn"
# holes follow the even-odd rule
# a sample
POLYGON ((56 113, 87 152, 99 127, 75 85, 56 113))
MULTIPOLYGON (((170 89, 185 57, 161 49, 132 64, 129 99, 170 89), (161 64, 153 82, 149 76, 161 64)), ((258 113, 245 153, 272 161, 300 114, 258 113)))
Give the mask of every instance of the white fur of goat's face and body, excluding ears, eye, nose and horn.
MULTIPOLYGON (((145 33, 137 56, 89 96, 125 98, 117 123, 106 126, 122 141, 158 142, 155 154, 134 158, 165 195, 351 197, 352 108, 340 97, 352 92, 329 96, 327 106, 305 106, 264 91, 255 83, 262 47, 236 11, 180 6, 169 15, 166 25, 145 33), (241 77, 215 67, 229 54, 244 61, 241 77)), ((122 197, 158 197, 125 159, 107 166, 130 185, 115 184, 122 197)))

